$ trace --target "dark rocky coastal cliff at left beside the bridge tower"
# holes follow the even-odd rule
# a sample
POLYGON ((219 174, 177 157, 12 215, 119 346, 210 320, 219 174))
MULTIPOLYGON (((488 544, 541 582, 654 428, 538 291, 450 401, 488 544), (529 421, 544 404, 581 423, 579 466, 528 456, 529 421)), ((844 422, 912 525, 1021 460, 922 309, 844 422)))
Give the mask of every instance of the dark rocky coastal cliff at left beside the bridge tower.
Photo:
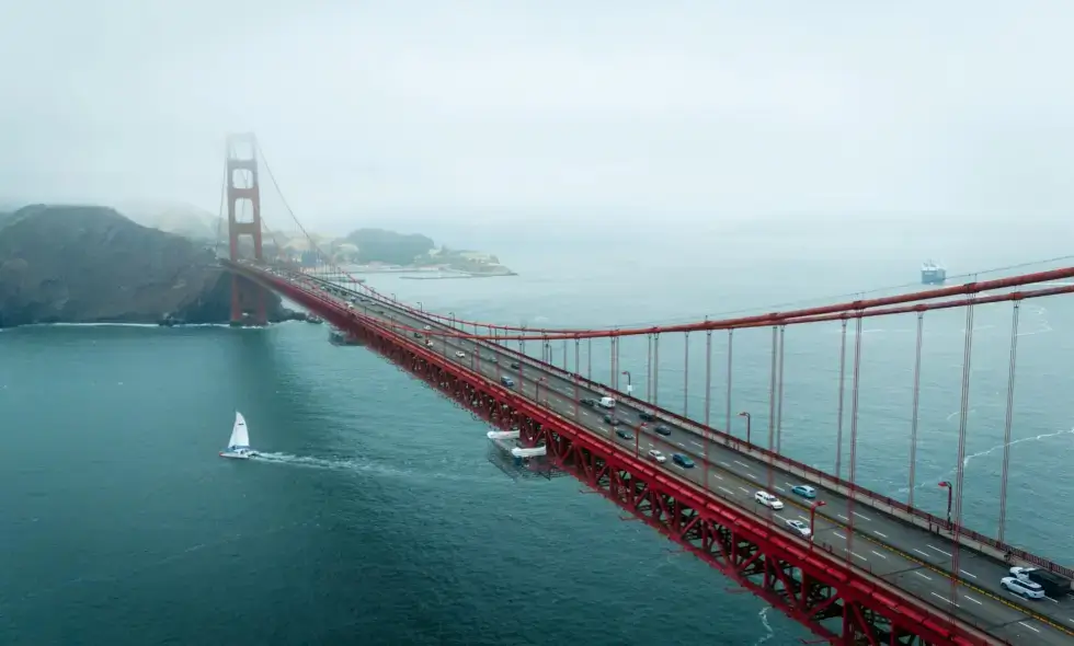
MULTIPOLYGON (((226 323, 231 279, 212 249, 92 206, 0 214, 0 327, 226 323)), ((300 319, 270 295, 268 319, 300 319)))

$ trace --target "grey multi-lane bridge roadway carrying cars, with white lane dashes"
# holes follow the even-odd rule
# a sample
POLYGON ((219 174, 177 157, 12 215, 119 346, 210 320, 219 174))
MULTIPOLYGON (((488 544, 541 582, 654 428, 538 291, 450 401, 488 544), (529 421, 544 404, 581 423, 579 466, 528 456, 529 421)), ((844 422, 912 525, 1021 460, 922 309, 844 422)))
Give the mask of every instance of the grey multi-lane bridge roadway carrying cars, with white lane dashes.
MULTIPOLYGON (((349 291, 349 290, 347 290, 349 291)), ((356 295, 362 297, 362 295, 356 295)), ((368 297, 363 297, 367 298, 368 297)), ((398 324, 421 330, 430 325, 434 330, 447 331, 450 326, 434 320, 419 318, 402 308, 372 299, 359 301, 356 308, 370 318, 380 319, 386 324, 398 324), (384 314, 380 313, 384 311, 384 314)), ((409 333, 407 333, 410 336, 409 333)), ((475 351, 475 342, 447 337, 432 337, 432 349, 449 360, 499 382, 501 376, 515 381, 515 391, 561 416, 573 419, 581 427, 597 436, 607 438, 622 450, 635 452, 644 459, 649 449, 655 448, 667 455, 662 466, 677 476, 706 487, 713 495, 723 497, 738 506, 753 510, 786 531, 786 521, 802 520, 809 523, 810 504, 790 494, 795 484, 803 484, 786 472, 772 470, 773 488, 785 507, 775 511, 754 501, 754 493, 767 489, 769 465, 756 458, 708 441, 692 429, 676 426, 660 419, 671 430, 670 436, 652 431, 658 423, 642 426, 638 408, 629 403, 618 403, 615 416, 622 420, 619 428, 635 434, 636 439, 626 440, 615 435, 613 427, 604 422, 604 412, 578 404, 578 397, 599 399, 602 393, 591 390, 558 373, 539 367, 536 360, 527 361, 504 351, 498 346, 480 343, 480 354, 475 351), (455 357, 456 350, 466 353, 465 359, 455 357), (496 362, 489 360, 496 357, 496 362), (480 357, 480 358, 479 358, 480 357), (512 361, 519 361, 519 368, 510 368, 512 361), (538 381, 540 380, 540 381, 538 381), (539 400, 538 400, 539 397, 539 400), (642 432, 639 434, 639 427, 642 432), (671 453, 684 453, 701 463, 708 441, 708 482, 702 468, 684 469, 671 460, 671 453)), ((419 343, 418 339, 411 341, 419 343)), ((819 507, 814 521, 814 543, 830 549, 833 554, 849 556, 854 565, 870 570, 910 593, 932 603, 945 612, 952 610, 950 603, 951 567, 953 542, 945 537, 905 523, 877 509, 860 504, 853 511, 855 518, 853 534, 846 516, 847 499, 830 489, 813 485, 818 489, 819 507), (859 511, 860 509, 860 511, 859 511)), ((795 535, 795 534, 792 534, 795 535)), ((964 621, 979 625, 993 636, 1012 644, 1074 644, 1071 631, 1074 628, 1074 599, 1025 600, 999 587, 999 579, 1007 575, 1007 566, 1002 562, 961 547, 959 554, 961 577, 953 608, 955 614, 964 621), (1055 626, 1063 626, 1058 630, 1055 626)))

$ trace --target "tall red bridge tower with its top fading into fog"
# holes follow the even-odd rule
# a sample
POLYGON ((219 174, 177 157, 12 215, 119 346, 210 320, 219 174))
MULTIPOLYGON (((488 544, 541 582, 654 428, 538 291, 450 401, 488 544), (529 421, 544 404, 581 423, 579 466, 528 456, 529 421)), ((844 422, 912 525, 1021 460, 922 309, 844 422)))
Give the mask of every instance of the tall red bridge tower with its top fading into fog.
MULTIPOLYGON (((240 259, 239 245, 250 238, 251 259, 262 262, 261 186, 258 183, 258 145, 252 132, 228 136, 228 239, 231 262, 240 259), (240 208, 241 207, 241 208, 240 208)), ((266 295, 263 287, 231 274, 231 325, 264 325, 266 295), (249 318, 244 314, 249 313, 249 318)))

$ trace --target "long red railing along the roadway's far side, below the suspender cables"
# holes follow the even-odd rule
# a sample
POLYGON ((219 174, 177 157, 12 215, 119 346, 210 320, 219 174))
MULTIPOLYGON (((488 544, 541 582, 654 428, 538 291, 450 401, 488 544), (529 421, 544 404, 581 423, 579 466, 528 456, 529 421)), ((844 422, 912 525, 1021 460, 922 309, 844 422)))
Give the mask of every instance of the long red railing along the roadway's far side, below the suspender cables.
MULTIPOLYGON (((310 279, 309 276, 304 276, 304 278, 307 281, 310 279)), ((328 282, 328 281, 320 280, 318 278, 313 278, 313 279, 317 280, 318 282, 328 282)), ((339 287, 339 286, 335 286, 335 287, 339 287)), ((413 316, 413 318, 416 318, 416 319, 423 319, 423 320, 426 321, 426 323, 430 323, 430 324, 433 324, 433 325, 437 325, 439 327, 449 327, 449 325, 446 325, 446 324, 444 324, 444 323, 442 323, 442 322, 439 322, 437 320, 434 320, 434 319, 424 316, 422 312, 415 311, 412 308, 402 305, 401 303, 399 303, 397 301, 392 301, 390 299, 386 299, 386 298, 382 298, 382 297, 379 297, 379 296, 370 296, 370 295, 362 295, 362 296, 366 296, 368 298, 373 298, 374 300, 377 300, 377 301, 381 302, 385 307, 388 307, 388 308, 392 308, 392 309, 401 309, 402 308, 402 309, 405 309, 408 315, 413 316)), ((585 384, 585 387, 589 390, 592 390, 594 392, 599 392, 599 393, 603 393, 603 394, 609 395, 609 396, 614 395, 617 400, 620 400, 620 401, 621 400, 626 400, 627 402, 630 403, 631 407, 635 407, 635 408, 638 408, 638 409, 641 409, 641 411, 647 411, 649 413, 652 413, 653 416, 656 417, 658 419, 663 418, 666 422, 671 422, 671 423, 676 424, 678 426, 688 428, 688 429, 695 431, 696 434, 698 434, 701 437, 706 437, 707 435, 716 436, 720 440, 722 440, 722 442, 724 445, 727 445, 729 447, 741 446, 741 447, 745 448, 749 452, 756 453, 757 455, 767 459, 773 465, 779 466, 781 470, 784 470, 784 471, 786 471, 788 473, 800 473, 801 475, 803 475, 808 480, 812 481, 814 484, 819 484, 821 486, 824 486, 825 488, 834 489, 834 491, 843 489, 847 494, 849 494, 852 497, 854 497, 855 499, 857 499, 859 497, 860 498, 866 498, 866 499, 871 500, 872 503, 875 503, 877 505, 887 506, 887 507, 889 507, 892 510, 900 511, 900 512, 902 512, 902 514, 904 514, 904 515, 906 515, 906 516, 909 516, 911 518, 915 518, 918 521, 926 523, 927 524, 927 528, 930 529, 930 530, 933 528, 936 528, 936 529, 938 529, 938 528, 946 528, 948 530, 952 530, 953 529, 952 523, 949 523, 946 518, 941 518, 941 517, 936 516, 934 514, 929 514, 928 511, 925 511, 923 509, 918 509, 917 507, 911 507, 910 505, 907 505, 907 504, 905 504, 905 503, 903 503, 901 500, 896 500, 896 499, 894 499, 894 498, 892 498, 890 496, 886 496, 883 494, 880 494, 880 493, 875 492, 872 489, 862 487, 862 486, 860 486, 858 484, 855 484, 853 482, 843 480, 842 477, 838 477, 836 475, 832 475, 830 473, 826 473, 824 471, 821 471, 820 469, 810 466, 809 464, 806 464, 806 463, 800 462, 798 460, 795 460, 792 458, 788 458, 788 457, 782 455, 780 453, 777 453, 775 451, 770 451, 770 450, 768 450, 768 449, 766 449, 764 447, 759 447, 757 445, 754 445, 754 443, 751 443, 751 442, 746 442, 744 440, 741 440, 741 439, 732 436, 731 434, 729 434, 727 431, 719 430, 719 429, 711 428, 711 427, 706 427, 706 426, 704 426, 704 425, 695 422, 694 419, 690 419, 688 417, 684 417, 684 416, 682 416, 682 415, 679 415, 677 413, 674 413, 672 411, 667 411, 665 408, 660 408, 658 406, 653 406, 653 405, 649 404, 648 402, 644 402, 642 400, 639 400, 639 399, 637 399, 637 397, 635 397, 635 396, 632 396, 630 394, 627 394, 627 393, 624 393, 621 391, 612 389, 610 387, 608 387, 608 385, 606 385, 604 383, 599 383, 599 382, 593 381, 592 379, 589 379, 586 377, 583 377, 583 376, 581 376, 581 374, 579 374, 576 372, 570 372, 570 371, 568 371, 568 370, 565 370, 563 368, 559 368, 558 366, 553 366, 553 365, 548 364, 548 362, 545 362, 545 361, 542 361, 540 359, 536 359, 536 358, 534 358, 534 357, 532 357, 529 355, 523 354, 523 353, 521 353, 518 350, 515 350, 515 349, 513 349, 511 347, 507 347, 504 344, 496 343, 494 345, 496 345, 496 347, 499 347, 501 350, 505 351, 506 354, 512 355, 512 356, 514 356, 514 357, 516 357, 516 358, 518 358, 521 360, 524 360, 524 361, 530 364, 532 366, 535 366, 535 367, 537 367, 537 368, 539 368, 541 370, 545 370, 547 372, 552 372, 552 373, 559 376, 562 379, 567 379, 567 380, 570 380, 570 381, 578 380, 580 383, 585 384)), ((877 506, 877 505, 873 505, 873 506, 877 506)), ((1049 561, 1048 558, 1044 558, 1042 556, 1038 556, 1036 554, 1031 554, 1029 552, 1026 552, 1025 550, 1021 550, 1019 547, 1015 547, 1014 545, 1009 545, 1007 543, 1003 543, 1003 542, 997 541, 996 539, 994 539, 992 537, 984 535, 984 534, 982 534, 980 532, 976 532, 976 531, 974 531, 972 529, 969 529, 969 528, 967 528, 964 526, 961 526, 961 527, 958 528, 958 533, 959 533, 960 537, 970 539, 972 541, 975 541, 978 543, 981 543, 982 545, 987 545, 989 547, 992 547, 997 553, 999 553, 999 555, 1009 553, 1013 557, 1016 557, 1016 558, 1018 558, 1020 561, 1024 561, 1026 563, 1030 563, 1032 565, 1036 565, 1037 567, 1040 567, 1042 569, 1047 569, 1049 572, 1053 572, 1053 573, 1060 574, 1060 575, 1062 575, 1064 577, 1067 577, 1067 578, 1074 578, 1074 569, 1072 569, 1072 568, 1062 566, 1062 565, 1060 565, 1058 563, 1054 563, 1052 561, 1049 561)))

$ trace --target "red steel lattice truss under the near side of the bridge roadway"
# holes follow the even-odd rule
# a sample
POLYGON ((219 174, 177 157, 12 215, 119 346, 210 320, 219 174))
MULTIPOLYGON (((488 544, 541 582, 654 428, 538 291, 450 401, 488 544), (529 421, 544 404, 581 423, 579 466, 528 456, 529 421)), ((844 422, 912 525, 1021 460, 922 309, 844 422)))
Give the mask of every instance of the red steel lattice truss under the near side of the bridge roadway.
POLYGON ((984 633, 944 614, 822 549, 799 544, 761 517, 653 469, 481 374, 426 350, 404 334, 344 309, 313 288, 231 265, 232 270, 309 308, 374 351, 522 441, 549 462, 702 558, 832 644, 984 645, 984 633))

